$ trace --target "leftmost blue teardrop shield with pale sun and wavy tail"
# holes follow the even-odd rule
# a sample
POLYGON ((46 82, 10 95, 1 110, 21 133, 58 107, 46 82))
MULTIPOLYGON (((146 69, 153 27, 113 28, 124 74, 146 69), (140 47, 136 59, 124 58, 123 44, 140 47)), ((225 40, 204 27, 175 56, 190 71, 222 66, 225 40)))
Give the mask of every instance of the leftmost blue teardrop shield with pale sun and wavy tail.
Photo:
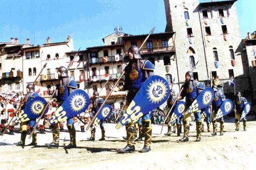
MULTIPOLYGON (((28 104, 26 104, 26 107, 20 112, 19 116, 14 122, 18 124, 24 121, 38 118, 41 115, 41 112, 43 111, 46 104, 47 101, 41 96, 33 98, 28 104)), ((48 106, 44 113, 46 113, 47 111, 48 106)))

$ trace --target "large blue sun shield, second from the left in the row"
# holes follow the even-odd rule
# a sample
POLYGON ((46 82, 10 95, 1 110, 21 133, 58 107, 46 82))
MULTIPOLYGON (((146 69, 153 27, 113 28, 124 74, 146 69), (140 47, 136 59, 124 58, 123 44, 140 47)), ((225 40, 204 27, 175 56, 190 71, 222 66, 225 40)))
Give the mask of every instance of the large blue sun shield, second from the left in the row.
POLYGON ((45 126, 61 122, 67 118, 84 112, 88 108, 89 104, 90 98, 88 94, 82 89, 76 89, 71 92, 68 98, 55 111, 45 126))

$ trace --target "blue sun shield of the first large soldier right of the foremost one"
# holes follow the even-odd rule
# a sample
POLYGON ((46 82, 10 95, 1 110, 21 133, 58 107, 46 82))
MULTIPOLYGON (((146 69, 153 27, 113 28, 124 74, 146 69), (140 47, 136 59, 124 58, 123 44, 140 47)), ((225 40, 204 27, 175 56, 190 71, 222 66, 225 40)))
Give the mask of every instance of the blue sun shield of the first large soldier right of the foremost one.
POLYGON ((191 115, 192 112, 196 112, 202 108, 207 107, 213 100, 213 89, 211 87, 204 88, 194 99, 192 104, 184 112, 184 117, 187 118, 191 115))

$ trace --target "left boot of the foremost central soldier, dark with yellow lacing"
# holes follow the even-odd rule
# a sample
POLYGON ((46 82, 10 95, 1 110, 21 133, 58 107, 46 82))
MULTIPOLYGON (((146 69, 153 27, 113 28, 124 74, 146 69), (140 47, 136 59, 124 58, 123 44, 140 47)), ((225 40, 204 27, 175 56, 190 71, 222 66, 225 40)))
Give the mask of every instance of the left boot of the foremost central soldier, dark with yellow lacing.
POLYGON ((125 124, 126 133, 127 133, 127 145, 124 148, 119 149, 119 152, 122 153, 131 153, 135 152, 135 143, 134 143, 134 133, 135 128, 133 122, 125 124))

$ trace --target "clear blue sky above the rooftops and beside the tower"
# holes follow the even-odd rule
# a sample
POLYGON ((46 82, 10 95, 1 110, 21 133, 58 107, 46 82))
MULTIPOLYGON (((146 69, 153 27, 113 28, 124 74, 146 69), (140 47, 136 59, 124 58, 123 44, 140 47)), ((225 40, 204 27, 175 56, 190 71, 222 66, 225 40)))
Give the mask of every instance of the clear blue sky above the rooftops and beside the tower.
MULTIPOLYGON (((242 38, 256 30, 254 1, 235 2, 242 38)), ((104 45, 102 38, 116 26, 135 35, 154 26, 155 33, 164 32, 166 26, 164 0, 1 0, 1 6, 0 42, 17 37, 42 45, 48 36, 62 42, 71 35, 78 50, 104 45)))

